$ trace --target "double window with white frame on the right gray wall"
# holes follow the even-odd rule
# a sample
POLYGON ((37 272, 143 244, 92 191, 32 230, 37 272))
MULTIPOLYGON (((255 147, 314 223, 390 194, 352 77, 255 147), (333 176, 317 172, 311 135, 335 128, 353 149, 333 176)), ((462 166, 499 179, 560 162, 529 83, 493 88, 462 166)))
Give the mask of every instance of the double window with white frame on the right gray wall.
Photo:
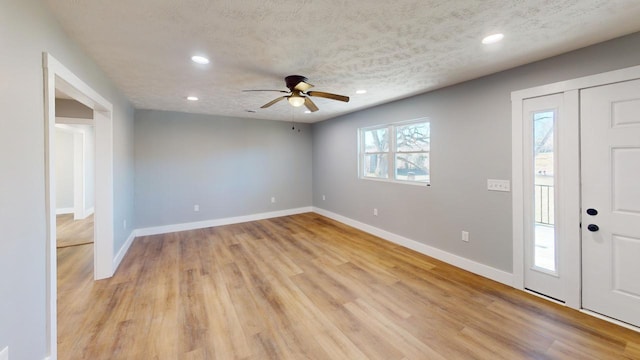
POLYGON ((430 129, 426 119, 359 130, 360 177, 426 183, 430 129))

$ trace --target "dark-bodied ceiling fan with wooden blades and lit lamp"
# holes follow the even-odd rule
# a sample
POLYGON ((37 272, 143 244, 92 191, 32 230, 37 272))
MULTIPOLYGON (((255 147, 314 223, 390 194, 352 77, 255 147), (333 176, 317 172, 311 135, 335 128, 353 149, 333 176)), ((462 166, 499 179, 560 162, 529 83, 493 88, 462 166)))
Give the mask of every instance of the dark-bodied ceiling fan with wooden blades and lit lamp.
POLYGON ((307 78, 302 75, 289 75, 284 78, 284 82, 287 85, 287 88, 289 89, 289 91, 284 91, 284 90, 243 90, 243 91, 277 91, 277 92, 288 94, 262 105, 260 107, 262 109, 266 109, 269 106, 277 103, 278 101, 287 99, 287 101, 289 101, 289 104, 291 104, 291 106, 299 107, 304 105, 307 107, 307 109, 309 109, 309 111, 316 112, 318 111, 318 107, 316 106, 316 104, 313 103, 313 101, 311 101, 311 99, 309 98, 310 96, 317 96, 325 99, 349 102, 348 96, 337 95, 337 94, 332 94, 332 93, 327 93, 322 91, 308 91, 313 87, 313 85, 309 84, 307 82, 307 78))

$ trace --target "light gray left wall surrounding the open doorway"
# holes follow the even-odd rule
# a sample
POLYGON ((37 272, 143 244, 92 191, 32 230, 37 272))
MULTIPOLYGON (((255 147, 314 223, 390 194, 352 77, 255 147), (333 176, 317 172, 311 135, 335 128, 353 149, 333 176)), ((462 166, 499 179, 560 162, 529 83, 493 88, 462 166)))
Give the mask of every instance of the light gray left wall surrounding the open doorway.
MULTIPOLYGON (((47 356, 42 52, 114 105, 115 221, 133 219, 133 108, 40 0, 0 1, 0 349, 47 356)), ((115 227, 116 249, 129 232, 115 227)))

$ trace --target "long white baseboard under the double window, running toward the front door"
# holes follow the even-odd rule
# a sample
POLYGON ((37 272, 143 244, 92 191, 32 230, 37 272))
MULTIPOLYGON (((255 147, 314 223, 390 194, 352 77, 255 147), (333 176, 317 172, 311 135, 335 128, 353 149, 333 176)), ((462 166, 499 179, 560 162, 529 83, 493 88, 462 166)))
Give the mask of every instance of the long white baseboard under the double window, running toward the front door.
POLYGON ((486 277, 488 279, 497 281, 499 283, 503 283, 505 285, 513 286, 513 274, 508 273, 506 271, 475 262, 473 260, 464 258, 462 256, 455 255, 455 254, 446 252, 444 250, 440 250, 433 246, 429 246, 421 242, 408 239, 406 237, 391 233, 386 230, 379 229, 369 224, 365 224, 363 222, 356 221, 346 216, 342 216, 321 208, 314 207, 313 211, 320 215, 326 216, 333 220, 352 226, 356 229, 367 232, 369 234, 381 237, 387 241, 391 241, 392 243, 404 246, 411 250, 415 250, 424 255, 431 256, 433 258, 436 258, 440 261, 444 261, 453 266, 457 266, 461 269, 467 270, 474 274, 486 277))

